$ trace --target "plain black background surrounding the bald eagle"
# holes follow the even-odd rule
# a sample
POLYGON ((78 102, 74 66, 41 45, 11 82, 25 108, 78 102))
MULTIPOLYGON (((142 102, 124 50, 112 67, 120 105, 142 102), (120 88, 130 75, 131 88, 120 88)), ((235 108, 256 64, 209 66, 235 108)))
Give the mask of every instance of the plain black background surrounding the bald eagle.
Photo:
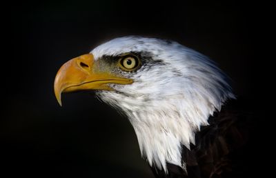
MULTIPOLYGON (((63 95, 59 107, 53 92, 63 63, 115 37, 160 37, 193 48, 233 79, 236 95, 266 112, 272 21, 264 3, 13 1, 2 8, 8 49, 1 65, 1 173, 8 177, 153 177, 126 118, 92 93, 63 95)), ((248 177, 269 170, 268 132, 260 123, 253 134, 248 177)))

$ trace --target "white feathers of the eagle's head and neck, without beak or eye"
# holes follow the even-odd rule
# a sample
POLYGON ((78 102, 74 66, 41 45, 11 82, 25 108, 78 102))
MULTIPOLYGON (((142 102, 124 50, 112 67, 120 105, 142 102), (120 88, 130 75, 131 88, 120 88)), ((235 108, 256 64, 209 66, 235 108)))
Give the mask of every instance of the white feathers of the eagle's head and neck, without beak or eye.
POLYGON ((185 167, 181 146, 195 144, 195 132, 229 98, 235 98, 226 76, 210 61, 179 43, 143 37, 121 37, 103 43, 92 53, 103 55, 146 52, 156 65, 141 66, 130 85, 117 92, 99 91, 106 103, 123 111, 135 129, 141 154, 150 166, 167 170, 166 162, 185 167))

